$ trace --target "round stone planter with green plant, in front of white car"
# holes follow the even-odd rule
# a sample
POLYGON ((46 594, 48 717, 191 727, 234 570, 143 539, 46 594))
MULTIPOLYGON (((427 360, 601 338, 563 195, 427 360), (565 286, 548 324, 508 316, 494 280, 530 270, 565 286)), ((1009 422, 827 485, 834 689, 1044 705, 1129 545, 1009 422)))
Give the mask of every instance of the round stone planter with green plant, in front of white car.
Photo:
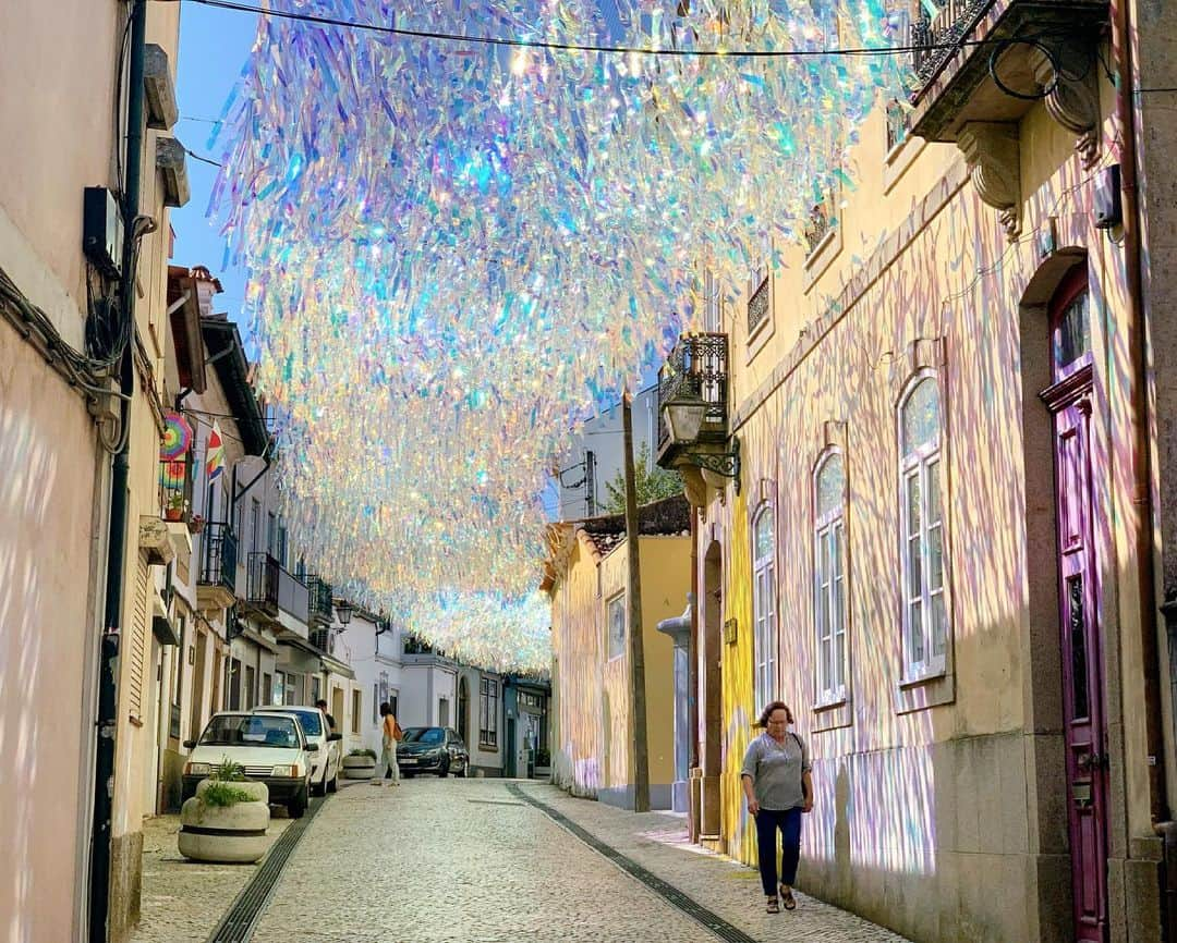
POLYGON ((180 810, 180 854, 193 861, 248 863, 266 854, 270 790, 222 762, 180 810))

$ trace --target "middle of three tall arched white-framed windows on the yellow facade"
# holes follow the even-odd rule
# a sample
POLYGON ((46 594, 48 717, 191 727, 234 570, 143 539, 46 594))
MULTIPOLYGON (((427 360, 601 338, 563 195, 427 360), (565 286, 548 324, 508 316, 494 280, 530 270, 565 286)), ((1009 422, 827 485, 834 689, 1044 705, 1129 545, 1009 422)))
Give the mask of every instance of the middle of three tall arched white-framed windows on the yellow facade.
POLYGON ((818 703, 846 696, 846 470, 829 453, 813 476, 813 621, 818 703))

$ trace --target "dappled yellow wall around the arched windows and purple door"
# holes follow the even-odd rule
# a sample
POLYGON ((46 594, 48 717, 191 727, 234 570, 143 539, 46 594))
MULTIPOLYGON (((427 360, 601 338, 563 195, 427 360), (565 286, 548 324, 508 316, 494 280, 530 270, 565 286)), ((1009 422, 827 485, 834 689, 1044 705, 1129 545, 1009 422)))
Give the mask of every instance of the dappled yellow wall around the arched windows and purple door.
MULTIPOLYGON (((1106 114, 1106 86, 1103 94, 1106 114)), ((1113 131, 1106 120, 1103 163, 1112 160, 1113 131)), ((1039 566, 1042 548, 1026 542, 1028 508, 1033 514, 1043 501, 1049 508, 1051 497, 1040 487, 1049 464, 1043 474, 1023 456, 1023 407, 1036 403, 1039 389, 1023 387, 1022 370, 1049 348, 1044 314, 1023 317, 1018 307, 1039 269, 1038 236, 1053 218, 1057 246, 1085 248, 1090 272, 1093 449, 1105 462, 1095 501, 1105 509, 1097 541, 1106 708, 1109 741, 1123 757, 1122 785, 1111 791, 1109 881, 1123 921, 1113 938, 1125 938, 1131 916, 1124 914, 1139 905, 1139 895, 1125 877, 1132 863, 1124 862, 1138 855, 1146 864, 1155 838, 1138 700, 1138 511, 1126 381, 1133 365, 1122 326, 1123 254, 1092 227, 1092 172, 1075 156, 1073 138, 1040 107, 1022 123, 1024 235, 1012 245, 955 146, 913 140, 886 155, 884 141, 879 109, 849 168, 858 188, 844 194, 840 248, 831 250, 824 274, 807 286, 804 252, 784 248, 773 274, 771 336, 750 348, 744 305, 725 313, 744 467, 743 494, 727 489, 725 501, 707 508, 724 544, 723 616, 738 623, 734 644, 723 646, 719 847, 754 861, 738 781, 753 710, 749 531, 760 504, 772 502, 779 695, 814 757, 817 808, 805 820, 802 883, 917 941, 1031 939, 1039 925, 1069 919, 1065 831, 1057 811, 1038 822, 1033 808, 1035 781, 1051 767, 1036 760, 1036 744, 1045 748, 1030 711, 1043 685, 1059 681, 1028 668, 1030 630, 1044 617, 1031 608, 1036 581, 1056 577, 1039 566), (1023 323, 1032 335, 1023 337, 1023 323), (933 339, 942 339, 945 356, 942 481, 953 670, 945 703, 910 709, 898 684, 896 404, 922 356, 915 347, 933 339), (814 709, 811 488, 826 422, 844 423, 849 488, 850 702, 840 722, 814 709), (1037 490, 1026 483, 1036 476, 1037 490), (1150 850, 1131 850, 1145 844, 1150 850), (992 899, 1018 904, 993 909, 992 899)))

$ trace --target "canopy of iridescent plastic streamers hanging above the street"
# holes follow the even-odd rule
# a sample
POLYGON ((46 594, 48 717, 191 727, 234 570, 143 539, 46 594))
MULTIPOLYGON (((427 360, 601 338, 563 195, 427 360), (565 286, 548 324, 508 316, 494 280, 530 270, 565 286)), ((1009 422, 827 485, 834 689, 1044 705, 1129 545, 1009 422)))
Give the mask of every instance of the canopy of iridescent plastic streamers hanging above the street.
MULTIPOLYGON (((271 7, 650 49, 899 32, 880 0, 271 7)), ((426 640, 544 663, 528 594, 553 456, 691 323, 700 260, 731 296, 754 260, 777 265, 772 240, 802 233, 903 72, 899 55, 524 51, 260 18, 210 212, 247 267, 307 560, 426 640)))

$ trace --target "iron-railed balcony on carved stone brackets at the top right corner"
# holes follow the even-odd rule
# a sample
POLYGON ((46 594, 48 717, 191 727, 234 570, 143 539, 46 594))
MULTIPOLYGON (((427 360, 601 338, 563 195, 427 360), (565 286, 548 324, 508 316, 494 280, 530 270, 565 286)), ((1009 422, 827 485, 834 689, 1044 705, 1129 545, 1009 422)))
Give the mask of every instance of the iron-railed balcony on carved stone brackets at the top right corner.
POLYGON ((910 133, 955 141, 980 199, 1010 239, 1020 233, 1019 122, 1037 103, 1098 160, 1097 49, 1108 0, 933 0, 911 25, 910 133))

